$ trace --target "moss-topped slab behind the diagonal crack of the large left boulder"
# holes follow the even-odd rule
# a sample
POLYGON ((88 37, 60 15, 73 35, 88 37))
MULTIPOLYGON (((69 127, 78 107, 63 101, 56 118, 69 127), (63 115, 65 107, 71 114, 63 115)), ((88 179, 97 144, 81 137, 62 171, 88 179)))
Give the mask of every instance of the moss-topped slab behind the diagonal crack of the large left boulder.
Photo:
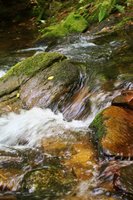
POLYGON ((13 66, 0 78, 0 113, 18 111, 24 107, 20 97, 20 88, 39 71, 50 67, 55 62, 66 59, 58 53, 42 53, 27 58, 13 66))

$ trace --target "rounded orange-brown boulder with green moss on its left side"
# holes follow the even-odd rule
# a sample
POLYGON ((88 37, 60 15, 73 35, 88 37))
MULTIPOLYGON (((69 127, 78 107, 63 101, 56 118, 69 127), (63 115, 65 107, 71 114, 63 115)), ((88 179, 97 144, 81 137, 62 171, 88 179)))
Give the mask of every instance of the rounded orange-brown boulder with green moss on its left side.
POLYGON ((110 106, 99 113, 90 128, 98 148, 107 155, 133 156, 133 111, 110 106))

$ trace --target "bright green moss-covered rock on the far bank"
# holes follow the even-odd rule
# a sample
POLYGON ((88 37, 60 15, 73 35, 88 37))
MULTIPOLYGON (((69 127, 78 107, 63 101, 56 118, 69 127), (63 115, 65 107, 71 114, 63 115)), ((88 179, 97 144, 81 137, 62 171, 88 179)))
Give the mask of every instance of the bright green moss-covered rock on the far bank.
POLYGON ((88 22, 84 17, 72 12, 60 24, 45 28, 42 37, 61 37, 73 32, 83 32, 87 27, 88 22))

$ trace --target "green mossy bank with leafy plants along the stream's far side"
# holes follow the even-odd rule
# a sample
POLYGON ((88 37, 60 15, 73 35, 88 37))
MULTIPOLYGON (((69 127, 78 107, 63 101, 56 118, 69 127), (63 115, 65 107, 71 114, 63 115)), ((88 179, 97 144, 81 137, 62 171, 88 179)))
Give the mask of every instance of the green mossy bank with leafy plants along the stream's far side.
MULTIPOLYGON (((43 5, 43 1, 41 1, 43 5)), ((72 33, 82 33, 86 30, 93 29, 93 26, 100 24, 105 19, 111 21, 111 16, 114 16, 112 30, 119 30, 132 21, 132 0, 84 0, 84 1, 55 1, 49 3, 50 9, 57 9, 58 12, 49 14, 47 17, 42 15, 39 18, 41 25, 40 38, 58 38, 72 33)), ((49 12, 51 12, 49 10, 49 12)), ((101 25, 103 28, 103 25, 101 25)), ((105 26, 106 27, 106 26, 105 26)), ((107 31, 108 29, 106 29, 107 31)))

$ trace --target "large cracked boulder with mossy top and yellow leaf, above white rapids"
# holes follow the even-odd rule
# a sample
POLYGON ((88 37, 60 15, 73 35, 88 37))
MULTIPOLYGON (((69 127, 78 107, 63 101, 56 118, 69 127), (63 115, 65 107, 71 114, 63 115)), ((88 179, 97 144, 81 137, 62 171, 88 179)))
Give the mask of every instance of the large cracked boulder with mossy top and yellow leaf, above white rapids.
MULTIPOLYGON (((81 63, 54 52, 27 58, 0 78, 0 113, 18 112, 21 108, 30 109, 34 106, 62 111, 64 106, 68 106, 67 102, 72 101, 70 97, 79 90, 83 68, 81 63)), ((63 112, 64 116, 67 113, 69 120, 76 118, 76 112, 75 116, 68 113, 73 109, 76 107, 63 112)), ((80 116, 82 111, 80 109, 80 116)))

